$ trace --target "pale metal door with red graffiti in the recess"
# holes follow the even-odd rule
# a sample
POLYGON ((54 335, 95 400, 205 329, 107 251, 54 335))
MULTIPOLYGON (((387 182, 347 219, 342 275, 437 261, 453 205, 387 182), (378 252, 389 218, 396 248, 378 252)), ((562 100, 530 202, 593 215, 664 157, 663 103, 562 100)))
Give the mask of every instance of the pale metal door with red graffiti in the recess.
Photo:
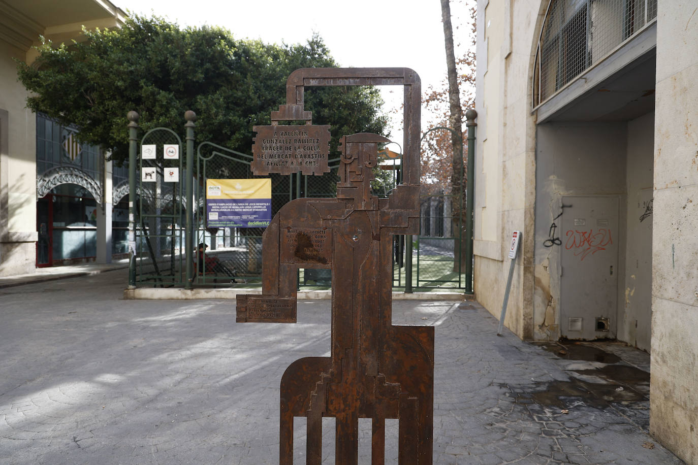
POLYGON ((560 335, 616 337, 618 197, 563 197, 560 335))

